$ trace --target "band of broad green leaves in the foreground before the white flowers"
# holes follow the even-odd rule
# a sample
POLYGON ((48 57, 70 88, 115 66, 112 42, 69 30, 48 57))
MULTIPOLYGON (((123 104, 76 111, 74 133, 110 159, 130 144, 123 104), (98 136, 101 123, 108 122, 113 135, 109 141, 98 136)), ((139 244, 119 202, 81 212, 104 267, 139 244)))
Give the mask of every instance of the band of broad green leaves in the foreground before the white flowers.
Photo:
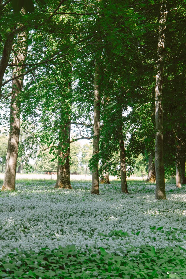
POLYGON ((33 251, 13 251, 9 262, 1 259, 0 276, 4 279, 16 278, 166 278, 181 279, 186 275, 185 253, 181 247, 156 249, 142 245, 138 255, 135 247, 128 249, 121 257, 107 254, 100 247, 99 254, 82 253, 75 245, 58 247, 49 251, 47 248, 38 254, 33 251), (169 273, 169 274, 168 274, 169 273))

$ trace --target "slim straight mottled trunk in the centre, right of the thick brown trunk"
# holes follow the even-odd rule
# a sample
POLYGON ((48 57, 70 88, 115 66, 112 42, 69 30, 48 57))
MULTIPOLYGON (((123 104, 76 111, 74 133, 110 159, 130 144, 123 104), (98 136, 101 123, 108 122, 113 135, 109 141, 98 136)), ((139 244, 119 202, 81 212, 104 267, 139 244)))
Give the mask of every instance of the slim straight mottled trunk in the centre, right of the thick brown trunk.
POLYGON ((99 195, 99 118, 100 118, 100 96, 98 87, 99 72, 98 66, 95 64, 95 76, 94 76, 94 139, 93 139, 93 169, 92 169, 92 194, 99 195))

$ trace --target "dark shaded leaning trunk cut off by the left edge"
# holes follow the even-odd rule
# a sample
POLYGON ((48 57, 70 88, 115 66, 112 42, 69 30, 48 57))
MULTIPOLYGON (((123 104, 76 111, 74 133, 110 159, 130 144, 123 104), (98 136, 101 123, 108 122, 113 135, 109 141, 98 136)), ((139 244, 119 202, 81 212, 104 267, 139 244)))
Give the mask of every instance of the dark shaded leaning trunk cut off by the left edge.
POLYGON ((4 77, 6 67, 8 66, 10 53, 12 51, 13 40, 14 40, 14 35, 13 34, 9 35, 9 37, 5 40, 3 53, 1 56, 1 61, 0 61, 0 100, 2 97, 1 87, 2 87, 2 83, 3 83, 3 77, 4 77))

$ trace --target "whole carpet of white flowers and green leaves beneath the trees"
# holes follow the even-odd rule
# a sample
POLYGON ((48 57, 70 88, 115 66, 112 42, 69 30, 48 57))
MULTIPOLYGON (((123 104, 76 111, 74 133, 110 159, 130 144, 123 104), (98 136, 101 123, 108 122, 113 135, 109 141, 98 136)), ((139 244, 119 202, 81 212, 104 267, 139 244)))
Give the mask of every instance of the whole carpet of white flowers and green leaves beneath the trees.
POLYGON ((185 278, 186 192, 167 184, 18 181, 0 193, 0 278, 185 278))

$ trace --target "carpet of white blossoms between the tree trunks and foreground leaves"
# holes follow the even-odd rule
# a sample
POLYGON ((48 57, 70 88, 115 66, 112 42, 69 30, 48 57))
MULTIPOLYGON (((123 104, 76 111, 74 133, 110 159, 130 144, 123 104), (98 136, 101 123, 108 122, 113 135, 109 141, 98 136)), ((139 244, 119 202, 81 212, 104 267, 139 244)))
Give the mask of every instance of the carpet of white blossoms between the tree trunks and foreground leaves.
POLYGON ((103 247, 119 255, 131 247, 138 253, 142 244, 185 247, 184 187, 167 185, 167 200, 155 200, 155 186, 145 183, 129 184, 130 195, 120 192, 119 182, 100 185, 99 196, 90 194, 89 182, 72 186, 17 185, 15 192, 1 192, 0 258, 15 248, 37 253, 68 244, 87 253, 103 247))

